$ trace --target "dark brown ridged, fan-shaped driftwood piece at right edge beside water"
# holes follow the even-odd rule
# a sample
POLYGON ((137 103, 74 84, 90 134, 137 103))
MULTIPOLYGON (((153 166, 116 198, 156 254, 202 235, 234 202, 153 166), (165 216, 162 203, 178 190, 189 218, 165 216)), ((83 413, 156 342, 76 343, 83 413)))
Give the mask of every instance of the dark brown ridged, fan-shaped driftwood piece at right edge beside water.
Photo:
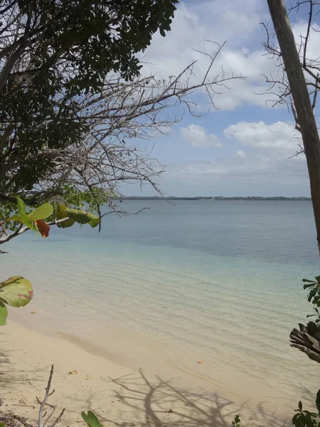
POLYGON ((299 323, 299 330, 290 333, 291 347, 304 352, 310 359, 320 363, 320 325, 308 322, 306 326, 299 323))

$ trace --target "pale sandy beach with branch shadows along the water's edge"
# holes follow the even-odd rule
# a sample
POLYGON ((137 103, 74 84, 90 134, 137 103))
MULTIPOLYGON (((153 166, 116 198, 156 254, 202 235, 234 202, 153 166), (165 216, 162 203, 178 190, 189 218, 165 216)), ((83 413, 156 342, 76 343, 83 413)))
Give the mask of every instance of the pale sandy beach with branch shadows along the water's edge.
MULTIPOLYGON (((36 315, 29 317, 36 322, 36 315)), ((49 330, 43 332, 12 320, 1 328, 1 410, 36 420, 36 396, 43 396, 54 364, 50 404, 57 412, 66 408, 65 426, 82 425, 83 410, 95 411, 105 426, 226 427, 235 413, 247 427, 290 425, 289 413, 284 421, 283 414, 276 416, 177 367, 167 367, 165 376, 150 366, 132 369, 49 330)))

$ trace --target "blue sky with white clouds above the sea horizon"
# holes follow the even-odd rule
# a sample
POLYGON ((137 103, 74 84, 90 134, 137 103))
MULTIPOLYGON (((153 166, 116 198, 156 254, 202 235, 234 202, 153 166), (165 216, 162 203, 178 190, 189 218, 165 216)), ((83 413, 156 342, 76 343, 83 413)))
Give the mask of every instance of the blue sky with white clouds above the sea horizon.
MULTIPOLYGON (((305 33, 307 18, 303 8, 290 14, 297 40, 305 33)), ((156 182, 166 196, 309 196, 304 154, 289 158, 299 150, 292 114, 286 106, 272 106, 276 98, 266 94, 270 86, 262 74, 275 76, 281 70, 262 46, 262 22, 273 31, 265 0, 181 1, 171 31, 165 38, 156 33, 144 53, 144 72, 157 78, 178 75, 197 60, 196 81, 208 65, 196 50, 215 51, 208 40, 226 41, 211 72, 245 76, 228 82, 228 88, 217 88, 217 108, 210 107, 204 117, 186 112, 169 135, 139 142, 143 149, 153 147, 152 157, 165 165, 156 182)), ((308 54, 317 58, 318 51, 320 33, 314 32, 308 54)), ((208 107, 203 90, 191 100, 200 109, 208 107)), ((141 194, 139 186, 122 191, 141 194)), ((150 186, 143 186, 142 194, 155 195, 150 186)))

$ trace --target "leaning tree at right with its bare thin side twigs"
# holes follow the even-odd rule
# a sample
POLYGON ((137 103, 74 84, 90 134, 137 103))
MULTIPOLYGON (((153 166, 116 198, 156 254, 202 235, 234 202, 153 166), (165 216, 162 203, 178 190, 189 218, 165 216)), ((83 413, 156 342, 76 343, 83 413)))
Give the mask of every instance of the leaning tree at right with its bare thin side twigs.
POLYGON ((267 0, 267 4, 274 25, 274 31, 277 35, 279 48, 270 45, 269 37, 265 46, 269 52, 278 56, 283 61, 285 71, 282 80, 272 83, 277 83, 282 88, 280 101, 284 101, 289 97, 294 119, 296 120, 296 128, 302 135, 303 151, 306 155, 306 163, 308 165, 311 199, 316 223, 316 239, 320 251, 320 139, 314 117, 316 96, 320 89, 320 63, 319 60, 308 58, 307 50, 312 31, 314 7, 319 6, 319 1, 299 1, 291 9, 297 9, 302 4, 309 4, 309 21, 306 36, 301 38, 299 53, 284 0, 267 0), (311 92, 309 92, 308 87, 311 87, 311 92), (312 103, 310 97, 313 98, 312 103))

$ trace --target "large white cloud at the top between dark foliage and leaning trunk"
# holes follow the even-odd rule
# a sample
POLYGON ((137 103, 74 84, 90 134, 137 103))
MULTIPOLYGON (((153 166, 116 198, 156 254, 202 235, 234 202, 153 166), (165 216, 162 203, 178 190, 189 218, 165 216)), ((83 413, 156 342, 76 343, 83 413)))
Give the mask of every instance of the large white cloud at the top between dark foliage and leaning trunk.
MULTIPOLYGON (((218 43, 227 41, 210 70, 210 80, 217 75, 224 75, 225 78, 243 75, 247 79, 228 80, 228 88, 217 86, 215 105, 220 110, 233 110, 245 103, 264 107, 270 98, 274 100, 274 95, 266 94, 269 86, 262 73, 268 74, 272 70, 272 75, 276 75, 279 68, 260 47, 260 40, 265 38, 260 22, 269 19, 261 1, 248 0, 245 6, 240 0, 196 3, 196 6, 192 6, 181 2, 171 31, 165 38, 159 33, 155 34, 144 57, 145 72, 155 73, 157 78, 168 78, 169 75, 178 75, 186 65, 197 60, 191 83, 199 82, 206 73, 209 59, 194 49, 206 49, 212 53, 216 46, 206 40, 218 43)), ((203 105, 207 105, 208 97, 204 90, 202 95, 203 105)))

